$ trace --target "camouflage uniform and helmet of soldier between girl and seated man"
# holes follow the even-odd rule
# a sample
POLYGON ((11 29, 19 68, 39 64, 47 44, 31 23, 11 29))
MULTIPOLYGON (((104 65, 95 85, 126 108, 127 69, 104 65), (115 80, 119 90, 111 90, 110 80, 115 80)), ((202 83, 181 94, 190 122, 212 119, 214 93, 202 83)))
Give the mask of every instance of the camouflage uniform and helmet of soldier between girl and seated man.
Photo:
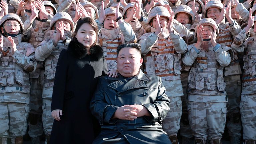
MULTIPOLYGON (((116 8, 109 7, 105 9, 105 15, 115 15, 116 8)), ((98 24, 98 27, 102 25, 98 24)), ((117 69, 117 47, 122 43, 134 43, 137 41, 136 36, 131 28, 131 25, 123 21, 119 23, 117 29, 100 29, 99 34, 100 46, 103 48, 104 56, 107 61, 108 70, 117 69)))

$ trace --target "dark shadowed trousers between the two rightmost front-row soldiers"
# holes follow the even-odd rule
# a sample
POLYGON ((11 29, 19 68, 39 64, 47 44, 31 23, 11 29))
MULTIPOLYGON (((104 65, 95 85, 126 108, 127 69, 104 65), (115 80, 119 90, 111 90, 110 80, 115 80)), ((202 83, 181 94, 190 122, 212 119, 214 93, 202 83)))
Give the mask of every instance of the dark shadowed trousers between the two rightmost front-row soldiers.
POLYGON ((240 99, 241 99, 241 80, 240 75, 225 76, 226 92, 228 96, 227 103, 227 123, 230 137, 241 137, 241 116, 240 116, 240 99))

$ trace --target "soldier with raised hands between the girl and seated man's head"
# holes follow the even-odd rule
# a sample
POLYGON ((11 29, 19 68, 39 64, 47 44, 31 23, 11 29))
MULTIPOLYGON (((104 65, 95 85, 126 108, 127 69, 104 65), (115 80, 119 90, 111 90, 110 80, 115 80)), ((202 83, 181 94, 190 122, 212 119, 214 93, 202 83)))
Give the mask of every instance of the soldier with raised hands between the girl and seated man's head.
MULTIPOLYGON (((105 11, 104 27, 99 34, 100 46, 103 48, 104 56, 107 60, 108 70, 117 69, 116 48, 122 43, 134 43, 137 41, 130 24, 125 22, 119 12, 120 2, 117 8, 109 7, 105 11)), ((102 13, 104 12, 101 11, 102 13)), ((98 27, 102 26, 102 20, 96 21, 98 27)))

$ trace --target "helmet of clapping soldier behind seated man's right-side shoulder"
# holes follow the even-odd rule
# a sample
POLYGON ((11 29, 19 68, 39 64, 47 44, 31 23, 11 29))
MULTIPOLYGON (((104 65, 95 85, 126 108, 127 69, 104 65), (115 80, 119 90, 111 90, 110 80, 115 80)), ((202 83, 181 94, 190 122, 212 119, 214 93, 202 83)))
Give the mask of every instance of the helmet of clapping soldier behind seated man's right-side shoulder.
POLYGON ((168 11, 168 9, 166 7, 163 7, 163 6, 156 6, 154 7, 149 15, 148 15, 148 24, 149 22, 154 18, 156 17, 156 14, 158 14, 159 16, 164 16, 164 17, 167 17, 168 19, 170 18, 170 13, 168 11))

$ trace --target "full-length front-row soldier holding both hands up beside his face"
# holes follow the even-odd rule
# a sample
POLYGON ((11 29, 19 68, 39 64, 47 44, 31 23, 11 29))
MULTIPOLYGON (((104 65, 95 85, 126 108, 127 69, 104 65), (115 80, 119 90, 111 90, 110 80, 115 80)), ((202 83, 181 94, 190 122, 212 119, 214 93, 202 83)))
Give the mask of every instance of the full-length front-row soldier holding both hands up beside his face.
POLYGON ((221 144, 227 113, 227 96, 223 67, 228 66, 231 48, 216 42, 218 26, 213 19, 204 18, 195 33, 197 43, 188 46, 182 61, 192 66, 188 76, 189 124, 195 144, 221 144))

